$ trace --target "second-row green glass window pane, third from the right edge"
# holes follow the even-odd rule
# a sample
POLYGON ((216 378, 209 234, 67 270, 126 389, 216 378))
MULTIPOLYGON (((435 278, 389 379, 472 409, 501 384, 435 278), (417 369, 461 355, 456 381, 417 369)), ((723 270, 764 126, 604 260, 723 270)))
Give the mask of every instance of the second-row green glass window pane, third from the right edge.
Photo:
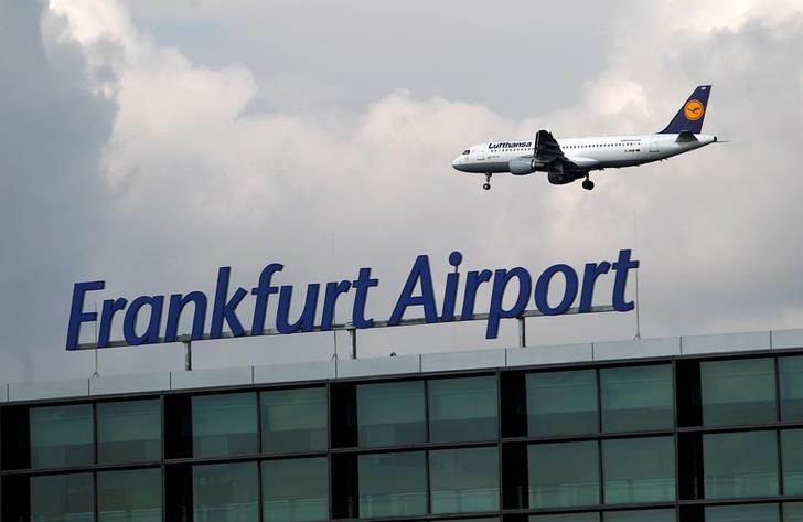
POLYGON ((603 440, 602 476, 607 504, 673 502, 674 438, 603 440))

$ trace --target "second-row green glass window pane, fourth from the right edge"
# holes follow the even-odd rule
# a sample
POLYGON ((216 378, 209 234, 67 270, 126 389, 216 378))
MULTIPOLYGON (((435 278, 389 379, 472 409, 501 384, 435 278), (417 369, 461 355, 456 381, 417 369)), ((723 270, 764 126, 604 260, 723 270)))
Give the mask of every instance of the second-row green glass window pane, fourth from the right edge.
POLYGON ((599 503, 597 441, 528 446, 527 468, 533 509, 599 503))

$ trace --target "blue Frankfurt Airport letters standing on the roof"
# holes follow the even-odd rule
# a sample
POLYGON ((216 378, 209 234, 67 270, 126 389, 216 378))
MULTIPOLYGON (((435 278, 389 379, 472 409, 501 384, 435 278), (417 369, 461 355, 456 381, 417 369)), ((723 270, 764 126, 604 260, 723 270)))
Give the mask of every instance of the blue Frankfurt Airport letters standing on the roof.
MULTIPOLYGON (((619 258, 611 262, 588 263, 581 270, 581 276, 571 266, 565 264, 553 265, 544 270, 537 278, 533 278, 529 271, 523 267, 496 270, 472 270, 465 274, 465 283, 460 289, 460 277, 457 268, 463 260, 462 254, 452 252, 449 255, 449 265, 453 271, 447 275, 446 288, 441 299, 436 299, 436 289, 432 284, 432 273, 429 265, 429 257, 419 255, 410 269, 404 288, 399 292, 396 305, 386 321, 375 321, 365 317, 365 307, 368 294, 372 288, 379 286, 379 280, 371 277, 371 268, 361 268, 354 280, 331 281, 325 285, 312 283, 307 286, 304 306, 300 317, 290 319, 290 303, 293 294, 291 285, 275 286, 274 276, 280 273, 285 266, 278 263, 267 265, 257 285, 248 291, 246 288, 237 287, 229 292, 231 267, 221 267, 217 270, 217 283, 215 294, 210 300, 201 291, 189 294, 172 294, 170 296, 140 296, 133 300, 124 297, 106 299, 99 312, 84 311, 84 301, 87 294, 104 290, 106 281, 76 283, 73 289, 72 308, 69 311, 69 324, 67 327, 67 350, 79 350, 83 348, 107 348, 119 342, 110 342, 111 324, 115 318, 122 318, 122 334, 125 344, 156 344, 160 342, 176 342, 179 335, 179 321, 186 308, 192 305, 192 332, 188 340, 222 339, 229 337, 263 335, 270 333, 299 333, 312 331, 330 331, 334 324, 334 310, 338 298, 344 294, 354 294, 352 308, 352 320, 349 323, 351 329, 374 328, 377 323, 384 327, 399 326, 403 322, 408 309, 418 309, 424 312, 422 321, 418 323, 437 323, 465 321, 477 319, 475 316, 486 318, 485 339, 495 339, 499 333, 499 326, 502 319, 522 317, 527 313, 527 307, 534 303, 543 316, 559 316, 574 311, 576 313, 588 313, 592 311, 595 285, 597 279, 612 271, 613 291, 611 294, 610 307, 615 311, 629 311, 634 308, 632 301, 627 301, 624 290, 628 283, 628 273, 639 267, 639 262, 631 259, 631 251, 622 249, 619 258), (558 300, 549 299, 549 286, 553 281, 559 280, 564 284, 563 297, 558 300), (515 284, 512 285, 512 283, 515 284), (477 292, 482 285, 491 285, 491 299, 488 313, 475 315, 474 303, 477 292), (461 310, 456 310, 458 294, 462 291, 461 310), (505 296, 508 291, 515 295, 515 302, 505 307, 505 296), (517 292, 517 294, 516 294, 517 292), (571 305, 577 300, 579 294, 580 302, 577 309, 571 305), (276 330, 268 330, 265 323, 268 315, 268 301, 270 296, 278 296, 276 307, 275 324, 276 330), (249 297, 250 296, 250 297, 249 297), (254 315, 250 318, 243 318, 237 315, 237 307, 245 299, 254 299, 254 315), (318 318, 319 301, 322 301, 320 323, 315 324, 318 318), (440 303, 440 307, 438 306, 440 303), (205 332, 206 312, 212 310, 210 330, 205 332), (162 329, 162 320, 167 311, 167 321, 162 329), (147 319, 147 328, 142 331, 138 323, 147 319), (244 322, 246 321, 246 322, 244 322), (84 323, 97 322, 97 344, 85 347, 78 344, 79 330, 84 323), (250 327, 250 328, 248 328, 250 327), (227 331, 224 331, 227 328, 227 331), (163 335, 162 335, 163 332, 163 335), (231 333, 229 333, 231 332, 231 333)), ((609 276, 610 277, 610 276, 609 276)), ((510 301, 507 301, 510 302, 510 301)), ((604 306, 603 308, 609 309, 604 306)))

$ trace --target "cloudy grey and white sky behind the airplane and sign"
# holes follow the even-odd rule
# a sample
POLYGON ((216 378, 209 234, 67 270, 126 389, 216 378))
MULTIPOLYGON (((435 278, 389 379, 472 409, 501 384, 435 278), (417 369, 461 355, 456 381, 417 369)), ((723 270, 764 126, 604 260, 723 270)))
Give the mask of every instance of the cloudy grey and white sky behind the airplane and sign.
MULTIPOLYGON (((94 353, 65 350, 75 283, 106 281, 92 310, 212 295, 221 266, 249 289, 283 264, 296 313, 307 284, 372 267, 382 320, 419 254, 442 291, 452 251, 461 270, 537 275, 632 248, 643 338, 803 328, 801 49, 803 4, 783 0, 0 0, 0 382, 93 374, 94 353), (543 128, 656 131, 700 84, 704 131, 729 142, 597 173, 593 191, 536 173, 485 192, 451 169, 469 145, 543 128)), ((636 331, 634 313, 527 324, 531 344, 636 331)), ((210 341, 194 364, 326 360, 335 343, 345 356, 331 332, 210 341)), ((514 321, 496 340, 480 322, 358 333, 361 356, 515 344, 514 321)), ((180 371, 183 347, 97 360, 180 371)))

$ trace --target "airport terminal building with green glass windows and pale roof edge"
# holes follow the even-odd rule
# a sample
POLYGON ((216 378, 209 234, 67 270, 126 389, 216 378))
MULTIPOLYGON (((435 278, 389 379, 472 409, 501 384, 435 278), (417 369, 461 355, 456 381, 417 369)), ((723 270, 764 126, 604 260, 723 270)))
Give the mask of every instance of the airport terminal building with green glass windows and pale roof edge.
POLYGON ((3 522, 803 522, 803 330, 0 387, 3 522))

